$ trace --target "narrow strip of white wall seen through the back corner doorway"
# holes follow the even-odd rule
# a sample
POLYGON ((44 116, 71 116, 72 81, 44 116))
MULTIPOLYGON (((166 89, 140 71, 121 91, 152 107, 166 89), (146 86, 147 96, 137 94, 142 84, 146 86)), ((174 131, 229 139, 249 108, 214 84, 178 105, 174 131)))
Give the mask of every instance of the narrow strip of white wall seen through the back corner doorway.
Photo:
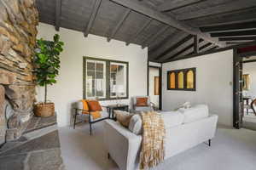
POLYGON ((159 77, 159 69, 149 67, 149 96, 156 107, 159 106, 159 95, 154 95, 154 77, 159 77))

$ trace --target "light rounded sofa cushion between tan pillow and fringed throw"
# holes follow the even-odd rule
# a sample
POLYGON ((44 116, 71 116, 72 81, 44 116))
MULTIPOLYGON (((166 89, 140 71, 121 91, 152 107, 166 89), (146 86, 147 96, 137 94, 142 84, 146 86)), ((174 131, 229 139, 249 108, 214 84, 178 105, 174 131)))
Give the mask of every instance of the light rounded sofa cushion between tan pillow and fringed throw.
POLYGON ((135 114, 131 117, 129 130, 137 135, 143 133, 143 121, 140 115, 135 114))

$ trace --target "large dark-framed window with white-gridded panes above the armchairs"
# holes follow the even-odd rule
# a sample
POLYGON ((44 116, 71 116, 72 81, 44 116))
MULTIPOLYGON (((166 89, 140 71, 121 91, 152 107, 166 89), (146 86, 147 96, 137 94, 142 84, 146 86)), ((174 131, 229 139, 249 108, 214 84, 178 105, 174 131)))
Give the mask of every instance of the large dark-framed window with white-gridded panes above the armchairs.
POLYGON ((84 99, 128 99, 128 62, 84 57, 84 99))

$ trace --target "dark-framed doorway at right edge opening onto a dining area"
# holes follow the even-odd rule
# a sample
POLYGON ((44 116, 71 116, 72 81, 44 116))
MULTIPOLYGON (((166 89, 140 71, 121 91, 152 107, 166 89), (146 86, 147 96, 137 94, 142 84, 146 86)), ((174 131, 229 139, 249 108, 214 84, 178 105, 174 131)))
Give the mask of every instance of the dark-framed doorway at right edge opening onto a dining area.
POLYGON ((234 48, 233 126, 256 130, 256 45, 234 48))

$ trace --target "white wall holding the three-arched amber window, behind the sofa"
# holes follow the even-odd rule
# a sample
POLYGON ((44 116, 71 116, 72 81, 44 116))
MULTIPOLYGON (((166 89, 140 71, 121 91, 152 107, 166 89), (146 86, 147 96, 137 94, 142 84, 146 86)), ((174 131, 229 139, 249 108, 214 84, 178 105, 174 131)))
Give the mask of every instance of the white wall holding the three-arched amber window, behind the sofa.
POLYGON ((173 110, 185 101, 207 104, 220 124, 232 126, 233 120, 233 51, 182 59, 163 65, 163 109, 173 110), (166 90, 166 72, 196 67, 196 91, 166 90))

